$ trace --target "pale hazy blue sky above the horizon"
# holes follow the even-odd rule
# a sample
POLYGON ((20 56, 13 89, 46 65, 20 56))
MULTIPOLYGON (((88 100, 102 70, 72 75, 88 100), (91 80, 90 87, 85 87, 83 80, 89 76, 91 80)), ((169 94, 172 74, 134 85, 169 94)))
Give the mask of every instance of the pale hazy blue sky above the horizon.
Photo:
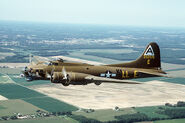
POLYGON ((0 0, 0 20, 185 27, 185 0, 0 0))

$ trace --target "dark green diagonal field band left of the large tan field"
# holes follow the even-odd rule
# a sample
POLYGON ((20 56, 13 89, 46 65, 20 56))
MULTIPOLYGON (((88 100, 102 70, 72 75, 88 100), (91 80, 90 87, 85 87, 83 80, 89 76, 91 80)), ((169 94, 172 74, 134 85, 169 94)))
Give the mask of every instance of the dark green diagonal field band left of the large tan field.
POLYGON ((23 99, 24 101, 49 112, 77 110, 76 107, 65 102, 14 83, 0 84, 0 95, 8 99, 23 99))

